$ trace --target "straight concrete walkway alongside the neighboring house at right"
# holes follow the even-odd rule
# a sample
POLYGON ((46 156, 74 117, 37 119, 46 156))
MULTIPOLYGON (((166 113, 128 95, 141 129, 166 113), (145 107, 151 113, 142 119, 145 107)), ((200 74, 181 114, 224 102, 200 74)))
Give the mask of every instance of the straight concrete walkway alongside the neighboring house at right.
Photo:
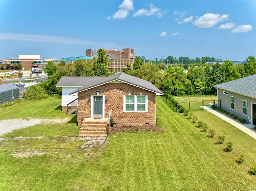
POLYGON ((253 127, 254 127, 253 124, 240 124, 240 123, 236 122, 235 120, 233 120, 232 118, 227 117, 224 114, 222 114, 216 110, 213 110, 208 106, 204 106, 204 109, 206 109, 208 112, 218 116, 219 118, 223 119, 224 121, 228 122, 229 124, 232 124, 233 126, 240 129, 241 131, 245 132, 252 138, 256 139, 256 131, 253 129, 253 127))

